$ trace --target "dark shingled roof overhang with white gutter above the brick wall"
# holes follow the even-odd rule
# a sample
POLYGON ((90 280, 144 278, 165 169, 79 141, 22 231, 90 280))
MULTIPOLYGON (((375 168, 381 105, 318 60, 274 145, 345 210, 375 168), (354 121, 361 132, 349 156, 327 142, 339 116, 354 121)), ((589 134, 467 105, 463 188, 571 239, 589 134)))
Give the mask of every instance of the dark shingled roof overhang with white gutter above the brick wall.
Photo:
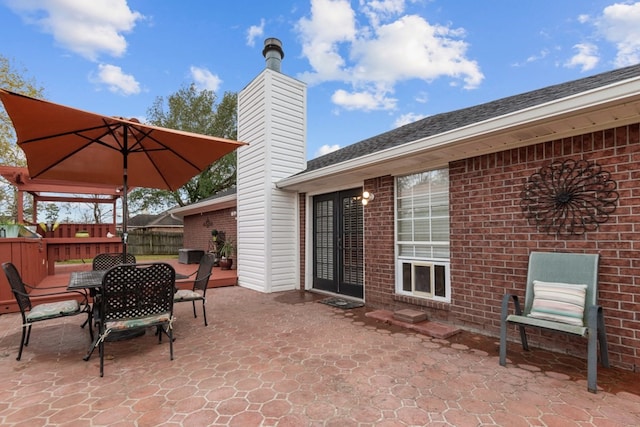
POLYGON ((310 160, 279 188, 314 191, 638 121, 640 64, 437 114, 310 160), (587 118, 585 119, 585 116, 587 118), (623 119, 623 120, 621 120, 623 119))

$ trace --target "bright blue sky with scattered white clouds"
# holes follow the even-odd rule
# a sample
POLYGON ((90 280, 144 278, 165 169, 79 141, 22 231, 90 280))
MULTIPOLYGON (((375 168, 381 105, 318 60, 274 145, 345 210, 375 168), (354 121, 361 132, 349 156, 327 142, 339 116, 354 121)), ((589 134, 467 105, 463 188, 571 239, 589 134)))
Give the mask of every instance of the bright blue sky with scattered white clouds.
POLYGON ((46 99, 144 121, 265 67, 307 84, 307 157, 433 114, 640 62, 640 1, 0 0, 0 55, 46 99))

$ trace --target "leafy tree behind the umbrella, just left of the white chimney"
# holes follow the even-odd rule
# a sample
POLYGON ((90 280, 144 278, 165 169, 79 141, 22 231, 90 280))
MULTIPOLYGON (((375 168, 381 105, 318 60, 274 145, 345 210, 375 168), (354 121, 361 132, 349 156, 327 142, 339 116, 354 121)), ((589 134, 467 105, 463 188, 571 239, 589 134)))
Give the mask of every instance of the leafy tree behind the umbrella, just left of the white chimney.
MULTIPOLYGON (((235 140, 237 104, 235 93, 217 96, 210 90, 198 90, 194 84, 182 87, 165 100, 156 98, 147 111, 149 124, 235 140), (165 111, 165 108, 167 110, 165 111)), ((172 205, 185 206, 205 199, 236 183, 236 153, 227 154, 195 176, 178 191, 137 188, 129 194, 130 210, 164 210, 172 205)))

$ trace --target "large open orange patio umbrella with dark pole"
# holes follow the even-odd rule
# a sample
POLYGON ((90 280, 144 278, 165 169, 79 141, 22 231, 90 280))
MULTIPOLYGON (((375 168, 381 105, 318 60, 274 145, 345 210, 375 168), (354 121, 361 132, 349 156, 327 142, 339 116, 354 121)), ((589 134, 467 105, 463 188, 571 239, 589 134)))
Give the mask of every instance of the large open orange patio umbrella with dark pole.
POLYGON ((243 142, 103 116, 0 89, 29 175, 122 187, 123 250, 129 186, 177 190, 243 142))

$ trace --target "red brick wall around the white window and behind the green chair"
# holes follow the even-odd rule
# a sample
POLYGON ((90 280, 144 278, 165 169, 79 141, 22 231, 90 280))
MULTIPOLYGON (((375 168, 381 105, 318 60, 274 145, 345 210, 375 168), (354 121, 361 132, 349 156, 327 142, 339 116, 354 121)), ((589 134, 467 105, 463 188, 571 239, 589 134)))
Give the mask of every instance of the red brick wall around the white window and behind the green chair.
MULTIPOLYGON (((432 319, 497 335, 504 293, 524 295, 531 251, 599 253, 599 302, 611 363, 640 370, 639 135, 636 124, 453 162, 451 304, 395 294, 394 180, 367 180, 364 189, 375 194, 365 208, 367 305, 393 310, 417 305, 432 319), (609 221, 581 236, 539 232, 520 208, 528 178, 552 161, 566 159, 597 162, 611 172, 620 194, 609 221)), ((586 340, 535 331, 529 335, 533 345, 586 357, 586 340)))

